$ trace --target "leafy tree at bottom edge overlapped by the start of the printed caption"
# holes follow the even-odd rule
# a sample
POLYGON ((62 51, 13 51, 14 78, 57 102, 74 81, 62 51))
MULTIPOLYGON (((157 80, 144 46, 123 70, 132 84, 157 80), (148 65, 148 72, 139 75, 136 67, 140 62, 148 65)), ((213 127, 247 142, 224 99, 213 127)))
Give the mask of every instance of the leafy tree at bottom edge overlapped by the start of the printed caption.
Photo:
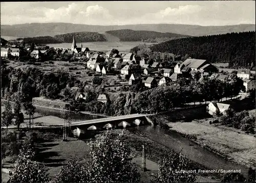
POLYGON ((158 175, 154 178, 155 182, 195 182, 196 173, 183 172, 192 170, 189 160, 181 153, 165 156, 160 162, 158 175), (179 173, 177 173, 179 172, 179 173))

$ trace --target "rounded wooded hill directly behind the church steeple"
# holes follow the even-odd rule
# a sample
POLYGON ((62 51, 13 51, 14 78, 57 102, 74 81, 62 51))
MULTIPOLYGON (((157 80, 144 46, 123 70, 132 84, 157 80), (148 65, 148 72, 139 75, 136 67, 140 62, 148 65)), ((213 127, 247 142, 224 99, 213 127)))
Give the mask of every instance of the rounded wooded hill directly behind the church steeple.
POLYGON ((74 35, 76 37, 76 42, 107 41, 102 34, 97 32, 75 32, 55 35, 54 37, 61 40, 62 42, 72 42, 74 35))

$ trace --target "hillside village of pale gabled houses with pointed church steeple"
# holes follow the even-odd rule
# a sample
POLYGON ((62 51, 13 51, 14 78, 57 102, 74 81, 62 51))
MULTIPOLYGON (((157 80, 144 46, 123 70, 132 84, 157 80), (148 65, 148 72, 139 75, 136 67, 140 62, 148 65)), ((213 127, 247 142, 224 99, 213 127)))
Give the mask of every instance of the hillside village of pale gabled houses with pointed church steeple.
MULTIPOLYGON (((217 67, 202 59, 187 58, 184 61, 172 61, 163 65, 161 61, 143 58, 133 53, 119 53, 116 49, 106 53, 90 51, 89 48, 82 48, 82 43, 81 47, 77 47, 75 35, 71 49, 49 48, 34 44, 28 45, 27 48, 18 47, 18 44, 15 43, 2 45, 1 57, 16 60, 15 62, 17 60, 24 61, 23 58, 26 58, 28 64, 38 65, 43 71, 53 71, 55 68, 56 70, 67 70, 68 68, 71 76, 81 80, 92 81, 93 76, 106 76, 108 80, 111 80, 110 78, 117 76, 118 79, 121 79, 120 82, 115 80, 112 83, 108 82, 109 86, 108 84, 104 86, 112 90, 132 85, 154 88, 177 81, 179 78, 193 78, 198 81, 203 78, 215 78, 224 81, 228 77, 227 72, 218 73, 217 67), (57 65, 51 64, 53 61, 49 59, 52 58, 52 55, 54 55, 57 65), (68 57, 70 60, 61 61, 60 58, 56 57, 68 57)), ((17 63, 22 62, 18 61, 17 63)), ((250 70, 239 69, 234 73, 243 79, 245 90, 241 91, 242 93, 248 93, 249 90, 255 89, 255 74, 251 74, 250 70)), ((76 94, 76 99, 86 99, 86 95, 84 93, 76 94)), ((100 95, 98 100, 106 102, 107 98, 106 95, 100 95)))

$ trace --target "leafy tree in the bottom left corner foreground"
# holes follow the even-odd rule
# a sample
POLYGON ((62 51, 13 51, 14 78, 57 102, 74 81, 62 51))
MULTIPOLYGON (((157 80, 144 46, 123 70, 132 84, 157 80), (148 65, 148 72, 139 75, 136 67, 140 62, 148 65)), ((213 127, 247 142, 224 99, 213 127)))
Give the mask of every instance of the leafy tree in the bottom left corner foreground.
POLYGON ((49 182, 44 165, 32 161, 33 157, 31 149, 22 149, 8 182, 49 182))

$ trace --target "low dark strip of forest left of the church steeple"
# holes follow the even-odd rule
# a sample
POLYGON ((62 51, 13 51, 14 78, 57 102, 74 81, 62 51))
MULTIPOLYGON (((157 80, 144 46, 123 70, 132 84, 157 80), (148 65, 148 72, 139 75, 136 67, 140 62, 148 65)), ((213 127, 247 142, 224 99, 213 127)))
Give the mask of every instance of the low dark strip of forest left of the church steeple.
MULTIPOLYGON (((17 40, 20 40, 18 38, 17 40)), ((61 43, 62 41, 51 36, 39 36, 39 37, 26 37, 22 38, 23 42, 26 43, 35 43, 35 44, 49 44, 49 43, 61 43)))

